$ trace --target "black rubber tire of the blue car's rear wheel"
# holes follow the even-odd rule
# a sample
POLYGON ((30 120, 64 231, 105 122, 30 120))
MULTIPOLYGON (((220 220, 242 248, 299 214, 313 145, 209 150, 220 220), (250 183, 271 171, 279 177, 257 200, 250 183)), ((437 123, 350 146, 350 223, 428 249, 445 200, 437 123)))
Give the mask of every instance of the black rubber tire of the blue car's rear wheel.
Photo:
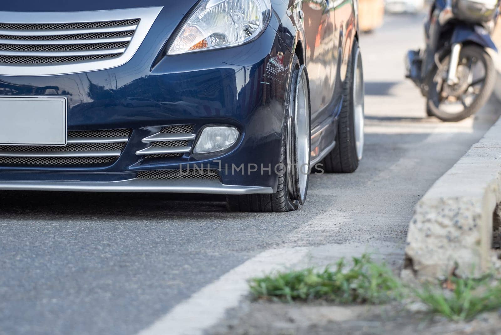
POLYGON ((326 173, 352 173, 358 168, 357 144, 354 125, 354 58, 359 52, 358 42, 353 43, 352 57, 348 63, 348 72, 343 87, 343 107, 339 114, 336 145, 322 160, 326 173))

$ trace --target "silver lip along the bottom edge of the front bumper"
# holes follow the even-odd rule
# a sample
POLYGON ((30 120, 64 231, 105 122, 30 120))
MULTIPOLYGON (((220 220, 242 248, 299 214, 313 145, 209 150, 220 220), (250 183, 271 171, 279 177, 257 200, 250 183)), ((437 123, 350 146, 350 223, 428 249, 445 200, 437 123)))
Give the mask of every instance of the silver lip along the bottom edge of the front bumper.
POLYGON ((216 180, 130 179, 119 182, 28 182, 0 181, 0 190, 67 192, 162 192, 220 195, 272 194, 271 187, 225 185, 216 180))

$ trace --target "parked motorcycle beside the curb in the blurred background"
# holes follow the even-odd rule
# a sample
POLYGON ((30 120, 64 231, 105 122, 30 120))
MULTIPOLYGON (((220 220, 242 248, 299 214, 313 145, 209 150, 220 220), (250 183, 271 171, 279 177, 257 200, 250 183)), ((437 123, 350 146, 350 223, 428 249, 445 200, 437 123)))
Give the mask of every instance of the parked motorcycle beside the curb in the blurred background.
POLYGON ((496 80, 487 49, 498 0, 436 0, 425 24, 426 49, 407 53, 407 78, 427 98, 426 111, 459 121, 489 99, 496 80))

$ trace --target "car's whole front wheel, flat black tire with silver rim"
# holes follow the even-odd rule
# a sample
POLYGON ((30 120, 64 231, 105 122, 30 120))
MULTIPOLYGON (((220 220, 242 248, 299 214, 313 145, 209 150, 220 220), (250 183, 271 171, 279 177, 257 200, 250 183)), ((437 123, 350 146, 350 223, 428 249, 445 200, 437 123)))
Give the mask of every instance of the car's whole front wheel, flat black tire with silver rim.
MULTIPOLYGON (((234 212, 276 212, 283 213, 295 211, 300 205, 303 205, 306 200, 306 193, 308 190, 309 174, 304 174, 306 181, 306 189, 303 192, 298 190, 300 184, 299 174, 292 168, 292 162, 297 161, 298 145, 296 137, 297 128, 295 123, 295 109, 297 108, 298 83, 300 79, 306 79, 307 96, 305 106, 307 119, 307 143, 301 145, 308 153, 308 168, 310 163, 310 141, 311 141, 311 115, 310 115, 310 89, 308 84, 308 75, 304 66, 301 66, 298 57, 295 55, 291 67, 291 79, 289 81, 289 89, 286 97, 287 108, 285 111, 284 126, 282 131, 282 141, 280 147, 280 164, 277 166, 279 172, 277 192, 274 194, 250 194, 240 196, 226 196, 226 208, 228 211, 234 212), (305 147, 306 145, 306 147, 305 147)), ((304 187, 304 185, 303 185, 304 187)))

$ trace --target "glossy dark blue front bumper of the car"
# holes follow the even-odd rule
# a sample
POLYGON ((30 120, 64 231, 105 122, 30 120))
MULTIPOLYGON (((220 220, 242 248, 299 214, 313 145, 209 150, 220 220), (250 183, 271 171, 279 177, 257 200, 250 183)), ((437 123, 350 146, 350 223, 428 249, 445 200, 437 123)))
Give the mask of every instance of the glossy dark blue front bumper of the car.
POLYGON ((131 129, 120 156, 110 164, 0 163, 0 190, 276 191, 274 166, 280 158, 291 61, 291 53, 276 31, 268 27, 260 38, 246 45, 166 56, 155 64, 157 54, 147 45, 158 42, 158 37, 147 37, 127 64, 113 69, 58 76, 0 75, 0 96, 67 97, 69 131, 131 129), (197 156, 192 150, 181 157, 136 154, 148 147, 145 137, 161 127, 178 124, 193 125, 197 136, 206 125, 233 126, 241 135, 229 150, 213 155, 197 156), (243 171, 232 169, 241 165, 243 171), (253 171, 255 165, 257 170, 253 171), (218 170, 219 180, 137 178, 142 171, 193 166, 218 170))

